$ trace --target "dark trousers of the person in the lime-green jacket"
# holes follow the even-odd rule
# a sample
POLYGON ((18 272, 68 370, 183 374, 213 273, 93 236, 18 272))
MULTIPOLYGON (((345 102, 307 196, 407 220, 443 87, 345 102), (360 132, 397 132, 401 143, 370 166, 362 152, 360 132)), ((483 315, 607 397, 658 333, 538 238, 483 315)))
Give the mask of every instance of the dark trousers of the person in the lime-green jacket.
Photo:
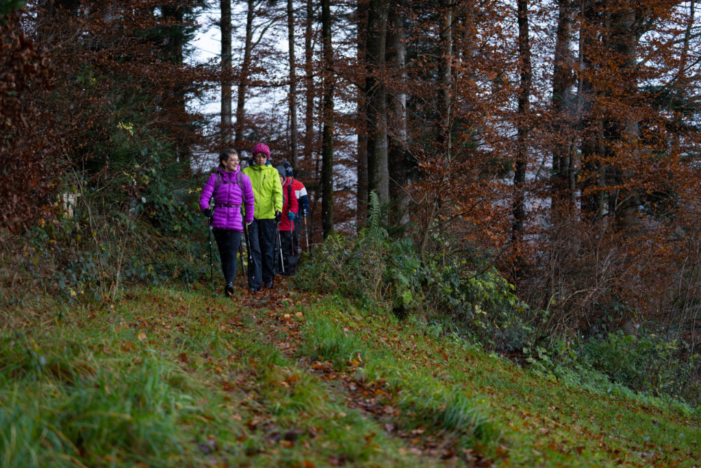
POLYGON ((263 283, 273 284, 275 267, 275 237, 278 223, 275 220, 256 220, 248 225, 251 264, 248 265, 248 287, 259 290, 263 283))

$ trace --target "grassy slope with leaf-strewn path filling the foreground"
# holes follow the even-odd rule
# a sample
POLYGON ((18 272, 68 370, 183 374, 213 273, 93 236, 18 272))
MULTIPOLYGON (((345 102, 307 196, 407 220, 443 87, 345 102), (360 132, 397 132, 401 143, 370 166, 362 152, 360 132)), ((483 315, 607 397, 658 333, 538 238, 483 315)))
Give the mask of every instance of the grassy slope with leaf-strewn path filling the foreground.
POLYGON ((700 466, 679 409, 290 286, 0 312, 0 465, 700 466))

